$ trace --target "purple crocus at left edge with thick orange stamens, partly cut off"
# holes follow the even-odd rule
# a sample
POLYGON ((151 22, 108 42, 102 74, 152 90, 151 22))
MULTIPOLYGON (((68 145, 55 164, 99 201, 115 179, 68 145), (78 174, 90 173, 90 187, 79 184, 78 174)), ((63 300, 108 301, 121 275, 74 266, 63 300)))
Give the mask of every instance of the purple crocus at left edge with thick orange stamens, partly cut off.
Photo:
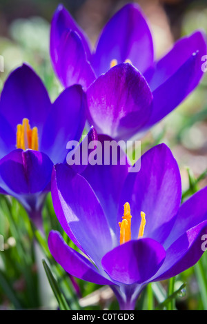
POLYGON ((6 80, 0 99, 0 193, 19 199, 36 223, 50 191, 52 165, 66 159, 66 143, 79 141, 85 122, 81 85, 67 88, 51 103, 28 65, 6 80))

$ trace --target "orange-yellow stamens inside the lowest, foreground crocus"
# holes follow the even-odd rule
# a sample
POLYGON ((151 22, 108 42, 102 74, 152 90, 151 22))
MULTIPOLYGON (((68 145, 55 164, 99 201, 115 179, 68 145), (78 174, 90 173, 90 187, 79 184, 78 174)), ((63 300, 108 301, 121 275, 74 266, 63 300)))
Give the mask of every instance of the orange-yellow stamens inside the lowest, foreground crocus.
MULTIPOLYGON (((124 216, 123 221, 119 222, 120 227, 120 244, 126 243, 131 239, 131 214, 130 214, 130 204, 124 204, 124 216)), ((141 212, 141 224, 139 226, 138 239, 144 235, 144 227, 146 225, 146 219, 144 212, 141 212)))

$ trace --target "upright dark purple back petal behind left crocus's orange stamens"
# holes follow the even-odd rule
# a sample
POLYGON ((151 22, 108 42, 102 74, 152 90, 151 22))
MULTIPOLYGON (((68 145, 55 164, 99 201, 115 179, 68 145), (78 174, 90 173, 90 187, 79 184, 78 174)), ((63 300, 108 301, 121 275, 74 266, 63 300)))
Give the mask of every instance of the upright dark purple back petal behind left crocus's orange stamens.
POLYGON ((32 128, 37 126, 40 137, 50 108, 46 88, 28 65, 23 64, 10 74, 1 92, 0 112, 14 130, 23 118, 28 118, 32 128))

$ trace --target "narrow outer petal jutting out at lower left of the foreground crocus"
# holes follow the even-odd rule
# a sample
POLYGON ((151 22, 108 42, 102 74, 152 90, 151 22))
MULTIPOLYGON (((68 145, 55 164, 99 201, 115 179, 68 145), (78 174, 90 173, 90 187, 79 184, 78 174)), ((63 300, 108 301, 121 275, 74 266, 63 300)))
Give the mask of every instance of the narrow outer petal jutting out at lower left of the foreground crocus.
POLYGON ((69 247, 59 232, 52 231, 48 236, 48 247, 55 261, 66 272, 79 279, 97 283, 97 285, 111 285, 112 283, 101 276, 97 268, 88 259, 69 247))

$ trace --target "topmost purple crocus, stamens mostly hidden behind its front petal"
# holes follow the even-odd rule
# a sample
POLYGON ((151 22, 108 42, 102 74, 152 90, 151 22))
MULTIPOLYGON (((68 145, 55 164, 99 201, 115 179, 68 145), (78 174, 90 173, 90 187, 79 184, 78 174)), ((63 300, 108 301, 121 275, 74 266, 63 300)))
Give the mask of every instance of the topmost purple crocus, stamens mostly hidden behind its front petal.
POLYGON ((135 4, 108 21, 92 51, 63 6, 52 19, 50 56, 57 77, 65 87, 80 83, 88 89, 90 124, 115 139, 141 136, 175 109, 198 85, 205 54, 206 37, 196 31, 155 61, 150 29, 135 4))

